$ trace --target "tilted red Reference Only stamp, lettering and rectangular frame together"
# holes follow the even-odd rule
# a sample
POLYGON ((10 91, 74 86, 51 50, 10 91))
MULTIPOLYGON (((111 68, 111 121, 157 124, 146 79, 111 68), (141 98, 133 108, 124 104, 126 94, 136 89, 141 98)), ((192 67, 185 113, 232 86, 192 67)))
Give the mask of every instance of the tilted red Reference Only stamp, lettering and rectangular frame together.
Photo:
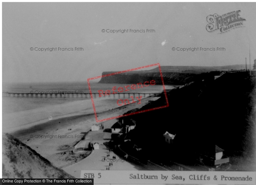
MULTIPOLYGON (((129 115, 134 115, 134 114, 139 114, 139 113, 144 113, 144 112, 148 112, 148 111, 152 111, 152 110, 157 110, 157 109, 162 109, 162 108, 165 108, 165 107, 169 107, 169 102, 168 102, 167 95, 166 95, 165 85, 164 85, 164 82, 163 82, 163 75, 162 75, 162 71, 161 71, 161 67, 160 67, 159 63, 155 63, 155 64, 151 64, 151 65, 147 65, 147 66, 142 66, 142 67, 137 67, 137 68, 124 70, 124 71, 119 71, 119 72, 113 72, 111 74, 96 76, 96 77, 93 77, 93 78, 88 78, 87 83, 88 83, 88 87, 89 87, 89 91, 90 91, 91 102, 93 104, 93 110, 94 110, 94 115, 95 115, 96 122, 108 121, 110 119, 116 119, 116 118, 120 118, 120 117, 125 117, 125 116, 129 116, 129 115), (118 116, 114 116, 114 117, 98 119, 96 108, 95 108, 95 102, 94 102, 94 99, 93 99, 93 93, 92 93, 92 89, 91 89, 91 85, 90 85, 90 80, 95 80, 95 79, 104 78, 104 77, 107 77, 107 76, 117 75, 117 74, 130 72, 130 71, 136 71, 136 70, 140 70, 140 69, 144 69, 144 68, 148 68, 148 67, 154 67, 154 66, 158 66, 158 69, 159 69, 159 74, 160 74, 161 82, 162 82, 162 85, 163 85, 163 93, 164 93, 165 100, 166 100, 165 105, 159 106, 159 107, 154 107, 154 108, 151 108, 151 109, 146 109, 146 110, 139 110, 139 111, 136 111, 136 112, 123 114, 123 115, 118 115, 118 116)), ((109 90, 99 89, 97 91, 97 98, 108 97, 111 94, 113 94, 113 95, 118 94, 119 96, 120 96, 120 94, 126 94, 126 93, 127 94, 134 94, 134 95, 139 94, 137 97, 136 96, 129 97, 129 98, 131 98, 130 101, 129 101, 129 99, 117 99, 116 103, 117 103, 118 106, 128 105, 128 104, 131 104, 131 103, 140 104, 141 100, 142 100, 142 96, 140 96, 140 93, 138 93, 138 92, 132 92, 132 90, 143 88, 143 87, 145 88, 145 87, 148 87, 148 86, 154 86, 155 84, 156 84, 156 81, 154 79, 151 79, 151 80, 148 80, 148 81, 145 81, 145 82, 131 84, 131 85, 127 85, 127 86, 122 86, 122 84, 120 84, 120 86, 118 86, 118 87, 113 86, 113 88, 109 88, 109 90), (127 91, 129 91, 129 92, 127 92, 127 91)), ((150 94, 150 93, 147 93, 147 94, 150 94)), ((94 97, 96 97, 95 93, 94 93, 94 97)))

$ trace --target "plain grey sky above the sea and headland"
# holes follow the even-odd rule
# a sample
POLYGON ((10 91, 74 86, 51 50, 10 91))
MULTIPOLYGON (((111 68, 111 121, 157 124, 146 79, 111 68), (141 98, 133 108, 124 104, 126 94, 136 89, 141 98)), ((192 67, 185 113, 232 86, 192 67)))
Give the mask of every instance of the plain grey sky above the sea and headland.
POLYGON ((244 64, 245 57, 249 62, 249 45, 253 64, 255 12, 256 3, 3 3, 3 83, 83 82, 103 71, 154 63, 244 64), (237 10, 245 19, 244 27, 224 34, 206 30, 208 15, 237 10), (106 31, 114 29, 145 32, 106 31), (73 51, 35 51, 56 47, 73 51), (74 51, 75 47, 83 51, 74 51), (177 51, 177 47, 225 51, 177 51))

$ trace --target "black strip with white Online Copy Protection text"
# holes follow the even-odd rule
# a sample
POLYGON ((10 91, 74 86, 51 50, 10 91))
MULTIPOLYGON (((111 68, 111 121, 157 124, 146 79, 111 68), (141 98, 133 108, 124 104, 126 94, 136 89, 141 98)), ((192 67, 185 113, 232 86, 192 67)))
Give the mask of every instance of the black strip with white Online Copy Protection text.
POLYGON ((93 178, 2 178, 3 185, 93 185, 93 178))

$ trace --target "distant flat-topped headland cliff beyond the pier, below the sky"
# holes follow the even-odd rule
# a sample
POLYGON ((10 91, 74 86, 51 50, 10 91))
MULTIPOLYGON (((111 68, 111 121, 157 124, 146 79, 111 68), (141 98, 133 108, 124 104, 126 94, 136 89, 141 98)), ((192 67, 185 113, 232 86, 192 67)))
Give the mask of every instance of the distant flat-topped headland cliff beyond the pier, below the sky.
MULTIPOLYGON (((252 67, 252 66, 251 66, 252 67)), ((249 65, 247 65, 249 69, 249 65)), ((245 65, 231 66, 161 66, 163 81, 166 85, 183 85, 196 80, 205 79, 207 76, 219 75, 219 71, 245 70, 245 65), (209 74, 211 73, 211 75, 209 74)), ((114 73, 114 71, 102 72, 103 75, 114 73)), ((155 80, 160 85, 161 76, 159 68, 146 71, 131 71, 117 75, 105 76, 99 83, 141 83, 148 80, 155 80)))

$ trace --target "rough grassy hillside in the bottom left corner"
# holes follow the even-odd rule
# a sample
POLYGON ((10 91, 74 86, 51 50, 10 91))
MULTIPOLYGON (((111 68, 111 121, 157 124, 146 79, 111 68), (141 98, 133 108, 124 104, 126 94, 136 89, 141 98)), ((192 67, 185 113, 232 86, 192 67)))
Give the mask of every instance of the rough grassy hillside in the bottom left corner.
POLYGON ((2 167, 3 178, 74 178, 10 134, 3 134, 2 167))

